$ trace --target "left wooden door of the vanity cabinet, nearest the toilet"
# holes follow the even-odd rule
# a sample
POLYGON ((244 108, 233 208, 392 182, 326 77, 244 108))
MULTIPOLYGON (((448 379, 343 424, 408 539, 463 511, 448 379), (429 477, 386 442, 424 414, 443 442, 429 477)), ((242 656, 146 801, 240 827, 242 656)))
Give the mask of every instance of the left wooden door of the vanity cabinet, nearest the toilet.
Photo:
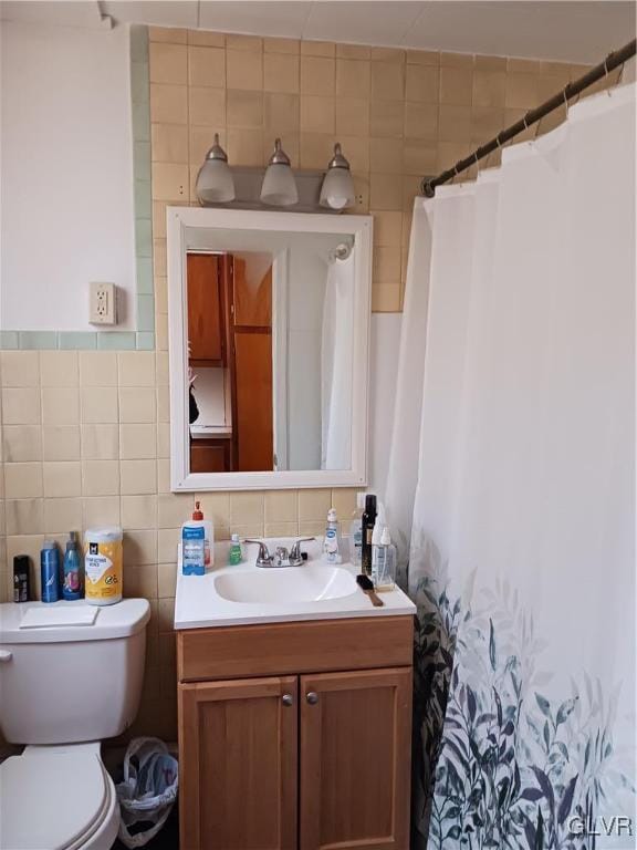
POLYGON ((179 685, 181 850, 296 848, 295 676, 179 685))

